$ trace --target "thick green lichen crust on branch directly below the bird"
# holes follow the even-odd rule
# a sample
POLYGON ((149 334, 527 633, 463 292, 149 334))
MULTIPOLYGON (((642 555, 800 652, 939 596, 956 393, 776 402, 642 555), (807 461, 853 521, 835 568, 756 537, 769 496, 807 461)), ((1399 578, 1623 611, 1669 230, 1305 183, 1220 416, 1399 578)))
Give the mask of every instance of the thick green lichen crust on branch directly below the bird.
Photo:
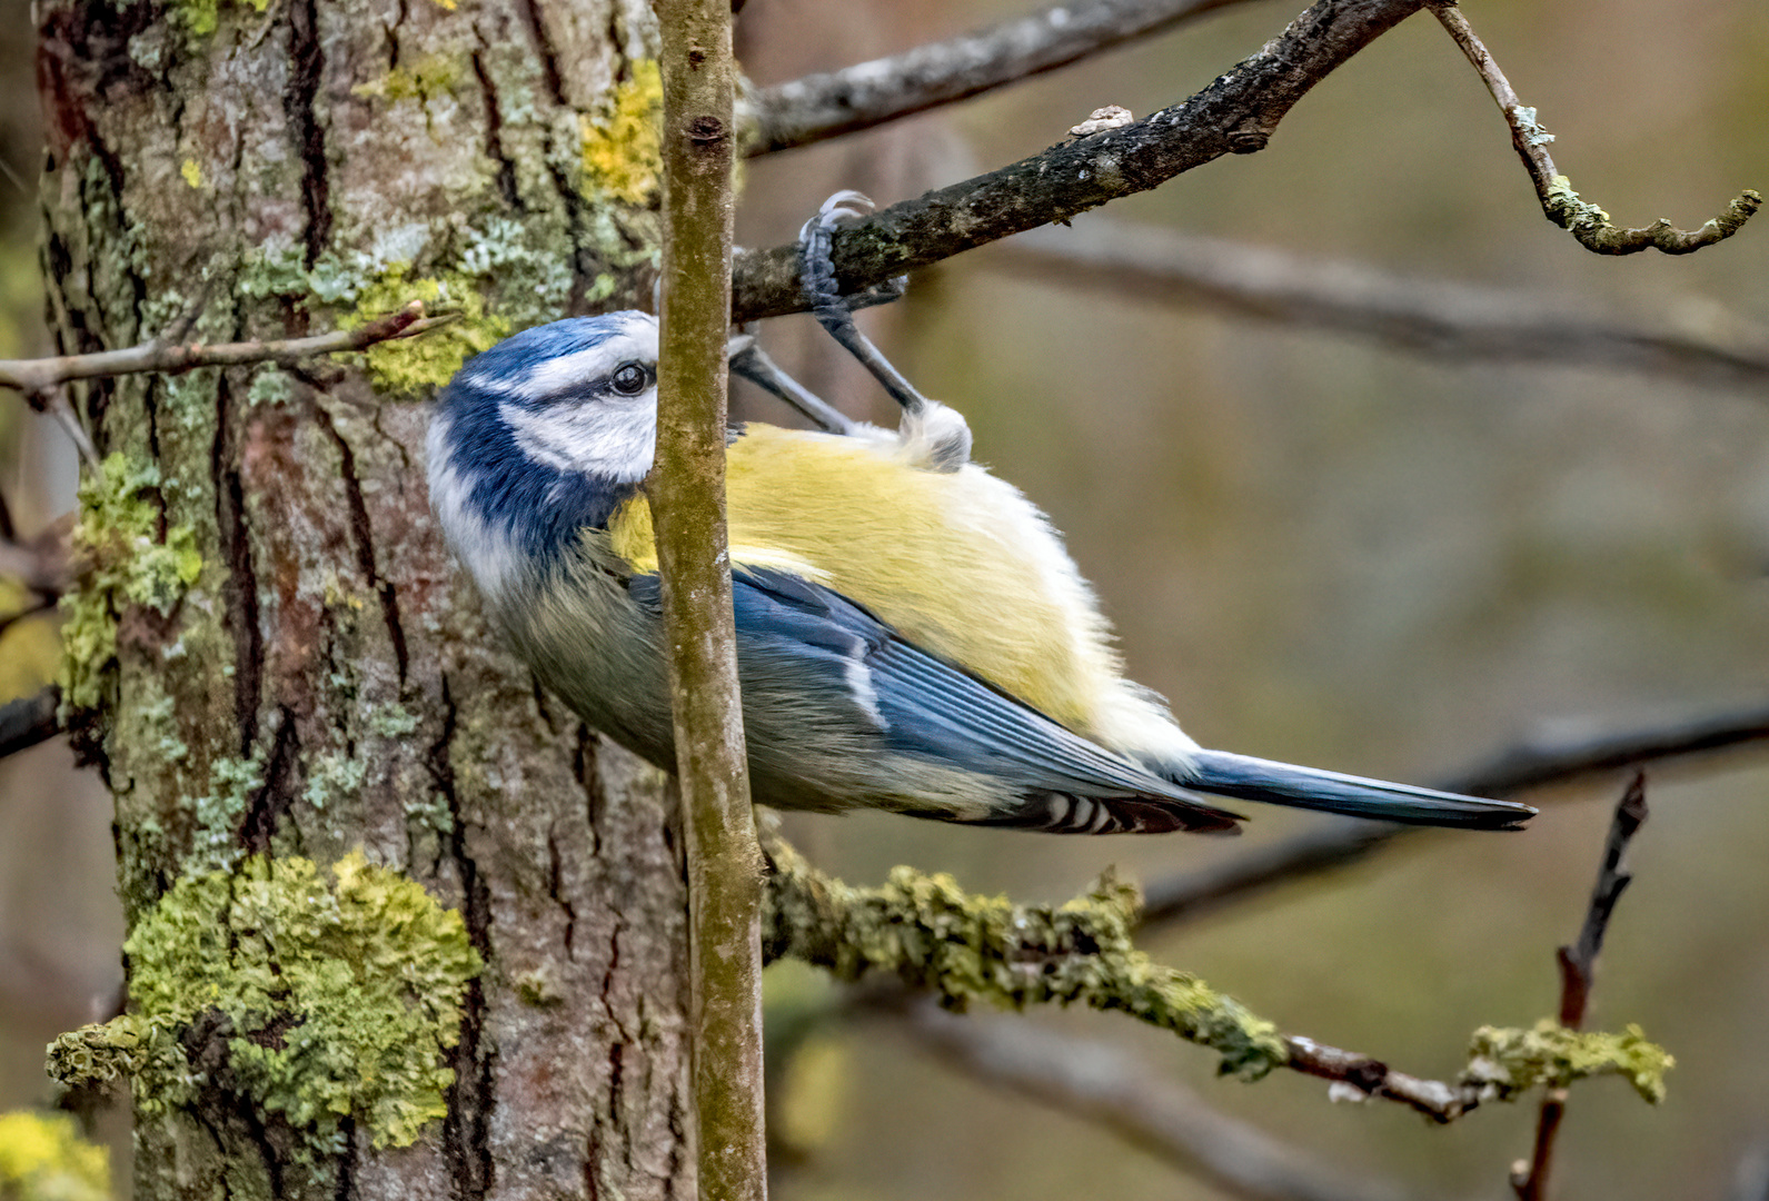
POLYGON ((764 845, 773 863, 762 927, 770 959, 801 959, 840 980, 895 975, 950 1008, 982 999, 1118 1010, 1210 1047, 1222 1056, 1221 1072, 1244 1079, 1290 1059, 1272 1022, 1134 946, 1141 900, 1109 870, 1086 897, 1019 906, 907 867, 893 868, 883 888, 853 888, 778 838, 764 845))

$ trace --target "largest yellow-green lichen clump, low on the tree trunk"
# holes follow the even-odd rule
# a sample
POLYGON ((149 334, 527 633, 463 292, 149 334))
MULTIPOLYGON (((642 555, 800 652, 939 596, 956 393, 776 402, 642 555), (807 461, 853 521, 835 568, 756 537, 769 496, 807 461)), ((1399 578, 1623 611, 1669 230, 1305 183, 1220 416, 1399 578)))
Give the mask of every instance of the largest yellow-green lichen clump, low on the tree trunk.
POLYGON ((182 1040, 200 1022, 237 1088, 315 1151, 338 1150, 347 1116, 377 1148, 414 1143, 448 1111, 444 1052, 479 955, 460 913, 400 872, 354 853, 331 874, 251 858, 180 879, 124 943, 133 1012, 51 1044, 51 1074, 133 1074, 138 1114, 191 1105, 203 1081, 182 1040))

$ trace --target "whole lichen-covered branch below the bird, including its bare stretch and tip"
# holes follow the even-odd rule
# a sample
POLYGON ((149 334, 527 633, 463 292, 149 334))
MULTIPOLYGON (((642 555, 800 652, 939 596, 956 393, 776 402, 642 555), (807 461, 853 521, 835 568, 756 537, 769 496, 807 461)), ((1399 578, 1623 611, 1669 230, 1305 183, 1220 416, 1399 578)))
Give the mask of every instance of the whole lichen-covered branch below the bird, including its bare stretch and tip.
POLYGON ((770 962, 798 959, 846 982, 895 976, 950 1010, 980 999, 1012 1010, 1056 1003, 1122 1012, 1215 1051, 1224 1075, 1256 1081, 1290 1068, 1332 1081, 1336 1100, 1396 1100, 1436 1121, 1589 1075, 1626 1075, 1647 1100, 1665 1095, 1672 1058, 1633 1026, 1622 1035, 1578 1033, 1551 1021, 1530 1031, 1486 1026, 1454 1082, 1281 1035, 1240 1001, 1137 950, 1141 897, 1111 870, 1067 904, 1021 906, 907 867, 892 870, 881 888, 854 888, 817 872, 773 831, 764 833, 762 851, 771 865, 762 916, 770 962))

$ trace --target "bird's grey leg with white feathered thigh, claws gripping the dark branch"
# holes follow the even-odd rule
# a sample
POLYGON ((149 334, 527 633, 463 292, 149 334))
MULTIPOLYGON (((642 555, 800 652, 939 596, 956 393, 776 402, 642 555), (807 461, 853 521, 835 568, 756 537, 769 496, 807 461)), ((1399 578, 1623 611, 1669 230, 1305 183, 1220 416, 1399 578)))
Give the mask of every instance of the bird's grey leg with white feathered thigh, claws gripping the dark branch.
POLYGON ((844 297, 835 283, 835 230, 846 221, 872 212, 872 202, 856 191, 839 191, 823 202, 817 216, 800 230, 800 258, 803 262, 801 287, 817 324, 830 331, 842 347, 860 359, 884 391, 902 405, 902 423, 897 433, 909 462, 929 470, 957 470, 971 462, 971 428, 964 417, 929 400, 902 371, 890 364, 877 347, 854 325, 853 310, 867 304, 895 301, 907 287, 907 278, 892 279, 886 288, 869 288, 856 297, 844 297))

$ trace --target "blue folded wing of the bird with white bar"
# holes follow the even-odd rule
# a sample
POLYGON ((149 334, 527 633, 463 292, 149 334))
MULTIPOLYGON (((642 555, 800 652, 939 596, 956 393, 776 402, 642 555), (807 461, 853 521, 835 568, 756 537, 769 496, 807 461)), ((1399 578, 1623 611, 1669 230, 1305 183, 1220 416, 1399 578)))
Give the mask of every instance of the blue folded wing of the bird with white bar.
MULTIPOLYGON (((656 577, 632 582, 635 600, 653 607, 656 587, 656 577)), ((907 642, 833 589, 784 571, 738 568, 732 603, 752 734, 770 722, 770 715, 754 713, 755 699, 785 688, 794 697, 817 697, 819 725, 835 722, 876 753, 991 782, 989 812, 973 819, 984 824, 1088 833, 1235 830, 1235 814, 1198 803, 1182 787, 907 642)))

